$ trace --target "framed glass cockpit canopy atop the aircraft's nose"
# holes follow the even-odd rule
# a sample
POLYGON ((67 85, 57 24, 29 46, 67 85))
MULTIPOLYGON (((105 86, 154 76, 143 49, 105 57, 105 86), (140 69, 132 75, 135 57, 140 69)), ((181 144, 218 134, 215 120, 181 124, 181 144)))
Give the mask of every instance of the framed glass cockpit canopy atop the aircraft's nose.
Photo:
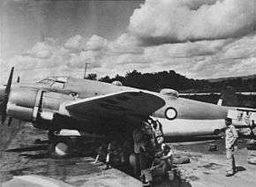
POLYGON ((46 79, 41 79, 37 83, 44 84, 45 86, 64 88, 64 84, 66 81, 67 77, 65 76, 53 76, 46 79))

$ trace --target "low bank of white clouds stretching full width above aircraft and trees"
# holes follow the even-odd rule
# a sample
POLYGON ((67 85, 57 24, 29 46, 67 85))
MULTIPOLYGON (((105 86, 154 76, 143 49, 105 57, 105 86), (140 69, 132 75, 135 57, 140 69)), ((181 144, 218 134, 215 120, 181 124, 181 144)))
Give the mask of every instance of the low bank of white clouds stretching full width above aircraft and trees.
POLYGON ((122 35, 115 41, 108 41, 96 35, 88 40, 74 36, 67 41, 82 42, 70 42, 74 45, 69 49, 66 48, 68 42, 40 41, 27 50, 26 55, 13 56, 8 62, 0 59, 0 78, 6 82, 11 66, 15 66, 21 79, 51 75, 81 78, 86 63, 89 63, 88 72, 98 73, 98 77, 132 70, 174 70, 196 79, 256 73, 256 35, 236 40, 187 41, 150 47, 139 47, 136 40, 129 40, 132 38, 122 35))

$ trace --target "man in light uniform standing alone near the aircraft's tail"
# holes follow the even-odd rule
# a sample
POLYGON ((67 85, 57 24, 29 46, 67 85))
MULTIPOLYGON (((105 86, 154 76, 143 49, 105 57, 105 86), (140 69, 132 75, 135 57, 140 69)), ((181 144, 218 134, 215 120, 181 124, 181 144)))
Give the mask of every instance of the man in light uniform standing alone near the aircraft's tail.
POLYGON ((225 143, 226 143, 226 159, 227 159, 227 175, 233 176, 236 172, 236 164, 234 158, 235 145, 237 143, 237 131, 232 124, 232 119, 225 118, 226 130, 225 130, 225 143))

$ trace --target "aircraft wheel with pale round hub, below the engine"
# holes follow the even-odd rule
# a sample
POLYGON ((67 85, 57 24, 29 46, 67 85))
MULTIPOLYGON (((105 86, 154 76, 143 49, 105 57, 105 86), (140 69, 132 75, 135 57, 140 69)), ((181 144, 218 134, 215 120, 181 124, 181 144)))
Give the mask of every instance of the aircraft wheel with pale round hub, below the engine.
POLYGON ((72 148, 68 138, 56 138, 49 144, 49 153, 51 158, 63 159, 72 153, 72 148))

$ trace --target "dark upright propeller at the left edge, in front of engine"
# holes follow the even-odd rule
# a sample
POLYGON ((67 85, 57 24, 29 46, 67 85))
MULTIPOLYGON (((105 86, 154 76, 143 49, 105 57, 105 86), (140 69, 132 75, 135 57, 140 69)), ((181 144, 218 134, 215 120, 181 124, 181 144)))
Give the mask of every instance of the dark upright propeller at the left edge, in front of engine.
POLYGON ((12 81, 13 71, 14 71, 14 67, 11 67, 11 73, 9 75, 9 79, 8 79, 7 85, 6 85, 5 90, 4 90, 4 100, 2 101, 1 106, 0 106, 1 116, 2 116, 2 123, 5 122, 6 116, 7 116, 6 108, 7 108, 7 103, 8 103, 8 100, 9 100, 9 95, 10 95, 10 92, 11 92, 11 81, 12 81))

